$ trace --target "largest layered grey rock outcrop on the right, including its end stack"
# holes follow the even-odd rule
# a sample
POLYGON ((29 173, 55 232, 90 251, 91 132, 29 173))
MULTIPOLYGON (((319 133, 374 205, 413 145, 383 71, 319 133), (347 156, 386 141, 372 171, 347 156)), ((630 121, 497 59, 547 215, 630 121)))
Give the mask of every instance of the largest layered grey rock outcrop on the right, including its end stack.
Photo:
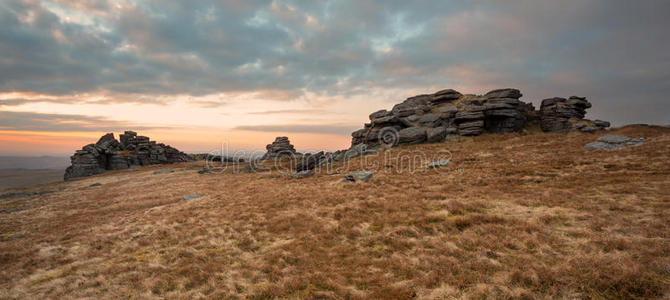
POLYGON ((440 142, 449 134, 477 136, 484 132, 518 132, 540 126, 544 131, 596 131, 608 122, 584 119, 591 104, 584 98, 553 98, 542 102, 540 111, 519 100, 517 89, 498 89, 485 95, 463 95, 447 89, 407 98, 388 110, 370 114, 370 122, 353 132, 351 145, 416 144, 440 142))

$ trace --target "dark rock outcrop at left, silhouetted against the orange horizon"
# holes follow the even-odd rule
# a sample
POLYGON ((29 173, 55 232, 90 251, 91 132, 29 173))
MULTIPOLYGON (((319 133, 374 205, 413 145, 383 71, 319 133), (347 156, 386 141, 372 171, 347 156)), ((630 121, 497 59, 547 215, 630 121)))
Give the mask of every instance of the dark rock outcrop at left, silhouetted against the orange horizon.
POLYGON ((120 135, 121 142, 113 133, 103 135, 95 144, 77 150, 70 160, 72 165, 65 170, 64 179, 104 173, 106 170, 123 170, 131 166, 146 166, 191 161, 187 154, 162 143, 138 136, 133 131, 120 135))

